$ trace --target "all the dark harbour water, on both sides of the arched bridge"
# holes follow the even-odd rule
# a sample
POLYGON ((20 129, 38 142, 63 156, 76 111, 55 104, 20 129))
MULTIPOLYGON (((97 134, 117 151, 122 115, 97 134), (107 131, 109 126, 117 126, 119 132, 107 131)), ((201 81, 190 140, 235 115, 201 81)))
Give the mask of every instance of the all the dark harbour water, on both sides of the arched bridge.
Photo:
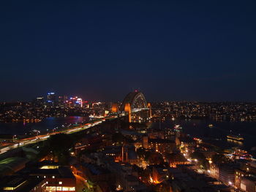
MULTIPOLYGON (((66 118, 45 118, 39 123, 0 123, 0 134, 24 135, 29 131, 39 130, 41 133, 56 131, 63 126, 72 126, 75 123, 86 123, 89 117, 71 116, 66 118)), ((210 120, 174 120, 165 121, 161 125, 153 123, 154 127, 173 128, 180 125, 184 133, 191 137, 199 137, 221 147, 241 147, 251 150, 256 147, 256 122, 219 122, 210 120), (213 127, 208 125, 212 124, 213 127), (227 134, 241 134, 244 142, 227 141, 227 134)))

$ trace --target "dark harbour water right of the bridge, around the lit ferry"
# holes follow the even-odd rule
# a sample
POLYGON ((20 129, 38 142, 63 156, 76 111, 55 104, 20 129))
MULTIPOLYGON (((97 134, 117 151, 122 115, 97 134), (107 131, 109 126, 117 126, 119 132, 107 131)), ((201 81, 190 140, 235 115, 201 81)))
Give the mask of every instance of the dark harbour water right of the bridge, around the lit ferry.
POLYGON ((154 123, 153 126, 161 128, 173 128, 175 125, 180 125, 184 133, 191 137, 199 137, 211 144, 229 148, 241 147, 245 150, 251 150, 256 146, 256 122, 227 122, 227 121, 211 121, 211 120, 174 120, 165 121, 161 125, 154 123), (209 124, 213 127, 209 128, 209 124), (244 137, 244 142, 227 141, 227 134, 241 134, 244 137))

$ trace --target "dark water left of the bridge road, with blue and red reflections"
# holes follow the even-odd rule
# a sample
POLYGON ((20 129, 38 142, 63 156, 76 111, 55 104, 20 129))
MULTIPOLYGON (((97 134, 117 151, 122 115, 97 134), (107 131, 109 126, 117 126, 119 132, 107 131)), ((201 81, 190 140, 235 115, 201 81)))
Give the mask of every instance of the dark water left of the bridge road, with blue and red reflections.
POLYGON ((29 134, 29 131, 38 130, 41 133, 59 130, 61 128, 89 121, 88 117, 70 116, 66 118, 45 118, 39 123, 0 123, 0 134, 29 134))

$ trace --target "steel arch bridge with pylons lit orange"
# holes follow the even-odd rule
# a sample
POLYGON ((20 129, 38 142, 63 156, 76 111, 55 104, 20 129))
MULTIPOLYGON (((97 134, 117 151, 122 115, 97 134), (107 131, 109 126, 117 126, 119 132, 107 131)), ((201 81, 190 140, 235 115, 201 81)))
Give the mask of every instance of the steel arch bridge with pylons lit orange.
POLYGON ((129 122, 145 122, 151 118, 151 105, 147 103, 143 93, 128 93, 119 109, 128 115, 129 122))

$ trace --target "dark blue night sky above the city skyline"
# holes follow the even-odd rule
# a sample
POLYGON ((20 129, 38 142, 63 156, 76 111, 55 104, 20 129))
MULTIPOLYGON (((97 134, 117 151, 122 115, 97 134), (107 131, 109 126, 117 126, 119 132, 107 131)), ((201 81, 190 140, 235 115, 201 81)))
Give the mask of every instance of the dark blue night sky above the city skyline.
POLYGON ((0 1, 1 101, 256 101, 256 1, 0 1))

